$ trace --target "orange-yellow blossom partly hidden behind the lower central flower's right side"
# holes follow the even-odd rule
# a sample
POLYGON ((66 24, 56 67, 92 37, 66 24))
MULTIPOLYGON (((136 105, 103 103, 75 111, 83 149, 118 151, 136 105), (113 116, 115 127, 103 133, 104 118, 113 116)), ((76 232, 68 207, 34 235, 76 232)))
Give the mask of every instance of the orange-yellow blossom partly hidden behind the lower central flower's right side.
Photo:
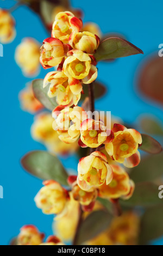
POLYGON ((134 182, 130 180, 128 173, 117 164, 111 165, 113 177, 110 184, 104 183, 99 187, 99 197, 106 199, 129 199, 134 192, 134 182))

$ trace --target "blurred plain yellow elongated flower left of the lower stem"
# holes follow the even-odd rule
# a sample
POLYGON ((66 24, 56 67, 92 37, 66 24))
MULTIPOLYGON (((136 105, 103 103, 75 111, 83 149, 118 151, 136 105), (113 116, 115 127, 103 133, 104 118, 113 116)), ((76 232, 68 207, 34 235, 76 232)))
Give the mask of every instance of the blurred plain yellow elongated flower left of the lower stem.
POLYGON ((79 220, 79 202, 73 199, 70 193, 70 200, 67 204, 67 212, 64 216, 57 218, 53 223, 53 230, 64 241, 73 239, 76 233, 79 220))

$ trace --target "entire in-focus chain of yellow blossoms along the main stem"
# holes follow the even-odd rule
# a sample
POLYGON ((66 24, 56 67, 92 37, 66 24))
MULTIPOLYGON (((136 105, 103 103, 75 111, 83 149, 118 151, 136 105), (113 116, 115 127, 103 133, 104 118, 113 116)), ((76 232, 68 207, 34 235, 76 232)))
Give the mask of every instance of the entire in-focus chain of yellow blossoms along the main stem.
POLYGON ((45 187, 35 197, 36 205, 45 214, 57 214, 57 218, 67 214, 71 198, 77 200, 84 211, 93 209, 97 197, 111 202, 129 199, 135 185, 120 164, 132 168, 140 162, 138 148, 142 137, 139 132, 121 124, 114 124, 109 130, 105 120, 91 119, 77 106, 83 83, 96 80, 93 53, 99 46, 97 35, 80 32, 82 24, 68 11, 57 14, 52 37, 44 40, 41 47, 43 68, 58 65, 58 70, 49 72, 43 82, 43 87, 50 85, 48 96, 56 96, 59 104, 52 112, 53 130, 65 145, 78 141, 80 147, 92 149, 90 155, 80 159, 78 176, 68 178, 71 192, 66 192, 55 181, 45 181, 45 187), (106 154, 102 153, 103 148, 106 154))

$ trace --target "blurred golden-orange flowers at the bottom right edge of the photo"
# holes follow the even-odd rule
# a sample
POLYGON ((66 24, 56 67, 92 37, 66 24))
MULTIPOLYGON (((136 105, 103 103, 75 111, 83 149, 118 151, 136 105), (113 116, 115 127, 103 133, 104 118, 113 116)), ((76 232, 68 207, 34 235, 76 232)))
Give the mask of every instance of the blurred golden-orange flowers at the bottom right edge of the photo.
POLYGON ((134 212, 114 217, 110 227, 87 242, 88 245, 137 245, 140 218, 134 212))

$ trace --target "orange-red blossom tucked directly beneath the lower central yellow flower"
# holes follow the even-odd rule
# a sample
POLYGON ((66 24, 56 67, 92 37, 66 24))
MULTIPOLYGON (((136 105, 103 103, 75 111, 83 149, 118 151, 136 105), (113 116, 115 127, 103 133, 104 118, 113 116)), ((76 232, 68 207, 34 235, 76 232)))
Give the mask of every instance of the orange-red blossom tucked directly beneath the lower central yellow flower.
POLYGON ((72 196, 74 200, 77 200, 82 205, 90 205, 92 202, 95 202, 97 198, 96 188, 92 188, 90 191, 82 190, 77 181, 72 185, 72 196))

